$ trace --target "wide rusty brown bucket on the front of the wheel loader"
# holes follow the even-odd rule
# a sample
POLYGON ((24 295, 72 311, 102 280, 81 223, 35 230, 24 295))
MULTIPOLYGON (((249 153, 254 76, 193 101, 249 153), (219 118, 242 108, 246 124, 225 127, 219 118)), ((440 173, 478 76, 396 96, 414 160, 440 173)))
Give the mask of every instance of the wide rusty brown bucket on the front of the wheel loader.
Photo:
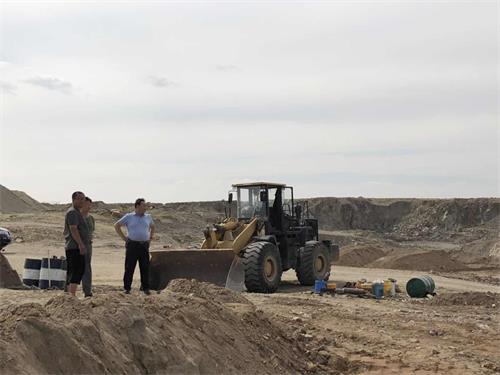
POLYGON ((196 279, 220 286, 226 285, 235 254, 232 250, 152 250, 149 286, 165 289, 173 279, 196 279))

